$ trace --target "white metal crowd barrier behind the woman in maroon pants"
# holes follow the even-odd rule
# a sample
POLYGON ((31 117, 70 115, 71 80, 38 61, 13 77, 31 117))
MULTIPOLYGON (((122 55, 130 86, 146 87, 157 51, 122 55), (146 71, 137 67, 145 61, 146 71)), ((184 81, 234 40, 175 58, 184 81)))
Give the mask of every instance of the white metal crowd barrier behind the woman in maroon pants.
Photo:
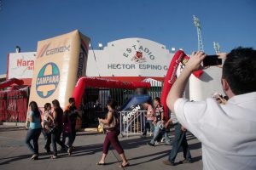
POLYGON ((147 111, 119 111, 120 133, 122 136, 140 135, 145 126, 147 111))

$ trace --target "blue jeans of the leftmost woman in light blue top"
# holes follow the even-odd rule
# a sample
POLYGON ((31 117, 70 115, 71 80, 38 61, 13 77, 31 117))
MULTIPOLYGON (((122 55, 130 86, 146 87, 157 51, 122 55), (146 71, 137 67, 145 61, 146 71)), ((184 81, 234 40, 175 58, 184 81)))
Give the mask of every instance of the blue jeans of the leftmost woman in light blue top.
POLYGON ((37 155, 38 155, 38 139, 39 139, 40 133, 41 133, 41 128, 35 128, 35 129, 29 128, 27 130, 26 139, 25 139, 28 149, 31 150, 33 154, 37 154, 37 155), (33 146, 31 144, 31 140, 33 140, 33 146))

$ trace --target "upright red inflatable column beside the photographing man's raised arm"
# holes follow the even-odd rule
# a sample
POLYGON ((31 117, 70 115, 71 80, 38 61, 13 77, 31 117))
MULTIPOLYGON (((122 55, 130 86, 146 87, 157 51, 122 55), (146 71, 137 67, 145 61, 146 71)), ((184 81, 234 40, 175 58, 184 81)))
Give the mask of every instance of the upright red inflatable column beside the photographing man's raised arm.
MULTIPOLYGON (((164 87, 162 89, 162 95, 161 95, 161 103, 164 107, 166 119, 169 117, 168 116, 169 109, 166 105, 166 98, 167 98, 167 95, 168 95, 170 89, 172 88, 172 84, 176 81, 177 67, 180 63, 182 63, 183 65, 186 65, 188 60, 189 60, 189 56, 187 56, 183 52, 183 50, 178 50, 177 53, 174 54, 171 64, 169 65, 169 70, 167 71, 167 74, 166 74, 166 79, 164 82, 164 87)), ((203 71, 194 71, 193 72, 194 76, 197 78, 201 77, 202 73, 203 73, 203 71)))

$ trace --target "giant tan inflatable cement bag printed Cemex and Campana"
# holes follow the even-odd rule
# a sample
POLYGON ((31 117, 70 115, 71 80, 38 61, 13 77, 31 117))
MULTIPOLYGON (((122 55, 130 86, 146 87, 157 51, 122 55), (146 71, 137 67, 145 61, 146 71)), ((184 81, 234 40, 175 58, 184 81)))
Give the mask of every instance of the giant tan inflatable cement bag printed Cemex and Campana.
POLYGON ((30 101, 39 107, 54 99, 67 105, 79 77, 85 76, 89 43, 79 31, 39 41, 30 101))

